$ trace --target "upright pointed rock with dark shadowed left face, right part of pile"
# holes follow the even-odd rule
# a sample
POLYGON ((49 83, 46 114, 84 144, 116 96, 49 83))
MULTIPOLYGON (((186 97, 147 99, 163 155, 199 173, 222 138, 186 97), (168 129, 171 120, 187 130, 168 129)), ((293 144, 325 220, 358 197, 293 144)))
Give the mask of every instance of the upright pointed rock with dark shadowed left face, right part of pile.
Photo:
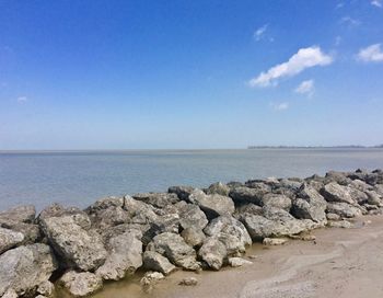
POLYGON ((292 203, 291 213, 301 219, 311 219, 315 222, 326 224, 327 203, 312 186, 302 184, 298 198, 292 203))

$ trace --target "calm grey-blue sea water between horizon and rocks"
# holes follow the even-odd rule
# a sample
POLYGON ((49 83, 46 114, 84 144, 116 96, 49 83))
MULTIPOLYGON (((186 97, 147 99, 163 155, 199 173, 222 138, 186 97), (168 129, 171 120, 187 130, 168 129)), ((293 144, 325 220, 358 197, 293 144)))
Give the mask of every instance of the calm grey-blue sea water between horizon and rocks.
POLYGON ((58 202, 85 207, 106 195, 383 168, 383 149, 159 150, 0 153, 0 210, 58 202))

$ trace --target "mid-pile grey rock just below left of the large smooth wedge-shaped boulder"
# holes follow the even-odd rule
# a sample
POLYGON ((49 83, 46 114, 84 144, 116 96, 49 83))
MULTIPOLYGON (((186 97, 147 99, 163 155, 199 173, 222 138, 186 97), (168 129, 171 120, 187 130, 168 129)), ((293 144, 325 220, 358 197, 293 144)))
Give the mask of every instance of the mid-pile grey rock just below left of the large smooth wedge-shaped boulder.
POLYGON ((179 202, 176 204, 179 214, 179 225, 183 229, 195 228, 204 229, 208 225, 205 213, 194 204, 179 202))

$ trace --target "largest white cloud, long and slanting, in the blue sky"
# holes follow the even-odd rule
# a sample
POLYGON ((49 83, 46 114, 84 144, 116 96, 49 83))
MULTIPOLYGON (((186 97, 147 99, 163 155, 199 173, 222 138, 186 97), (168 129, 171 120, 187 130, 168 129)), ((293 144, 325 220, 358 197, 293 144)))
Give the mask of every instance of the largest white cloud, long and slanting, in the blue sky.
POLYGON ((283 64, 271 67, 266 72, 260 72, 257 77, 251 79, 248 84, 251 87, 268 87, 277 84, 278 79, 283 77, 295 76, 306 68, 315 66, 326 66, 333 62, 329 55, 324 54, 320 47, 312 46, 301 48, 297 54, 283 64))

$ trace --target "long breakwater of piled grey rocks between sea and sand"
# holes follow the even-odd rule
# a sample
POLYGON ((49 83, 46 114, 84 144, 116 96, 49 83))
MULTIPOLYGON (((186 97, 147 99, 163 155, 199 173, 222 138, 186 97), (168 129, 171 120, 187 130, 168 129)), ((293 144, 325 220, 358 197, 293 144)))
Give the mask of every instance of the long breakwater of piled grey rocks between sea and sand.
POLYGON ((0 213, 0 296, 83 297, 137 270, 148 272, 141 284, 150 290, 175 270, 240 266, 253 242, 312 240, 313 229, 350 228, 350 219, 382 207, 381 170, 172 186, 83 210, 53 204, 36 215, 32 205, 18 206, 0 213))

